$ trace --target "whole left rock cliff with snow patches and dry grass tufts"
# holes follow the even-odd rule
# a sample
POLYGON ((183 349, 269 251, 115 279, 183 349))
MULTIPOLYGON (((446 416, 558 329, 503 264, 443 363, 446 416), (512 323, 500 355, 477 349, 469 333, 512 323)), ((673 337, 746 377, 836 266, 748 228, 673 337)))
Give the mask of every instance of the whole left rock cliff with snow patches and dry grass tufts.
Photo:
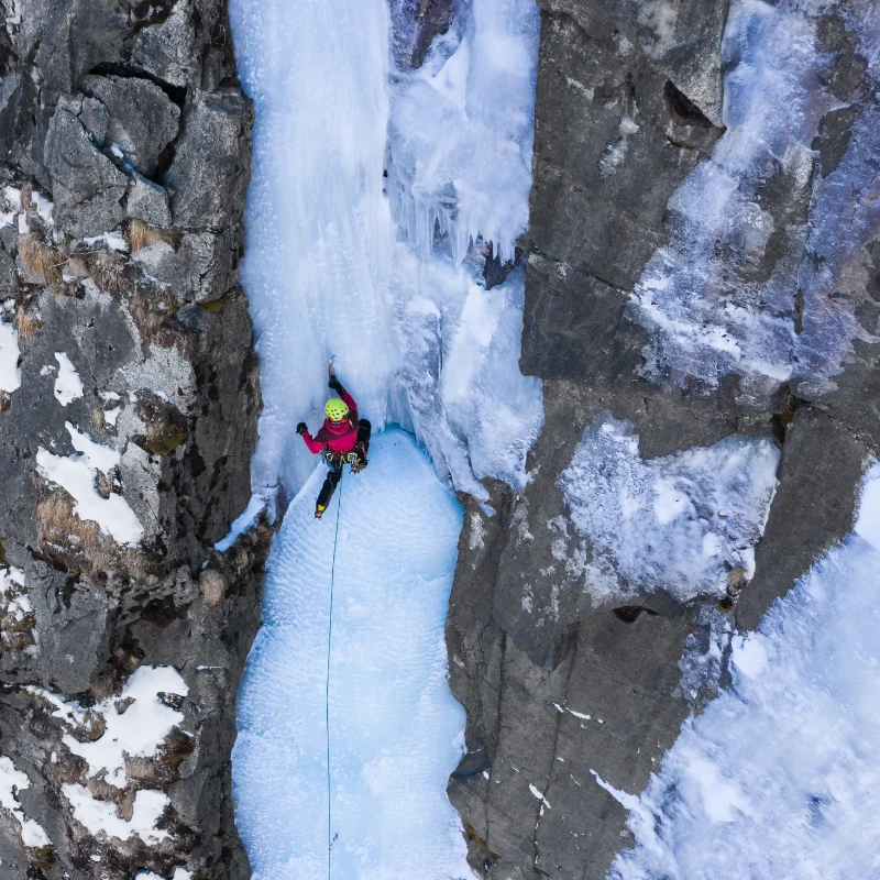
POLYGON ((3 877, 243 879, 268 536, 212 550, 260 407, 226 3, 0 7, 3 877))

